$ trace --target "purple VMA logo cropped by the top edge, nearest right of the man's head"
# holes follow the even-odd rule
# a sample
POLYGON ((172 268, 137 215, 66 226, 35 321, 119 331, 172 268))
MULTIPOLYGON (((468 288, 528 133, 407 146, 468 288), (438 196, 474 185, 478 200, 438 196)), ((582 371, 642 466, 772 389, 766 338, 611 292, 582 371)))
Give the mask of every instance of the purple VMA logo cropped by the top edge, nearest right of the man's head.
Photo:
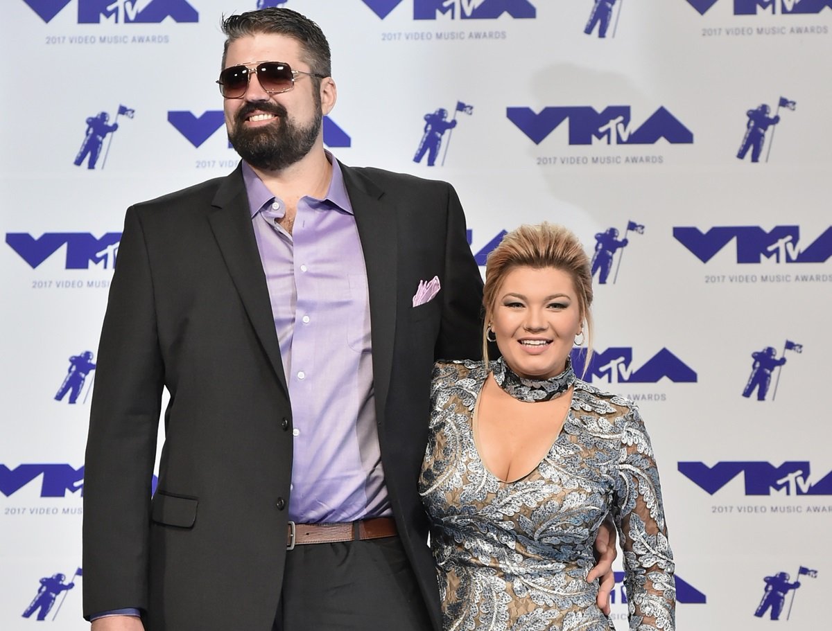
MULTIPOLYGON (((384 19, 404 0, 362 0, 384 19)), ((528 0, 414 0, 414 19, 435 20, 439 15, 453 20, 495 20, 508 13, 511 17, 537 17, 537 9, 528 0)))

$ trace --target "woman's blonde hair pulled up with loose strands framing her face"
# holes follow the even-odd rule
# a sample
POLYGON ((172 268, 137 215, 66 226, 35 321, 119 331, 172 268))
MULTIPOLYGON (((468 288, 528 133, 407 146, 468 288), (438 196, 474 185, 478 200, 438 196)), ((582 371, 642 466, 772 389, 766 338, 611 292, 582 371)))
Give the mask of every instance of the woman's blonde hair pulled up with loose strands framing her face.
POLYGON ((488 342, 486 335, 497 303, 497 293, 503 280, 513 269, 555 268, 569 274, 577 293, 581 319, 585 323, 584 333, 587 356, 584 366, 589 365, 592 356, 592 272, 589 258, 583 245, 571 230, 562 225, 523 224, 506 234, 503 241, 494 248, 485 264, 485 287, 483 288, 483 359, 488 365, 488 342))

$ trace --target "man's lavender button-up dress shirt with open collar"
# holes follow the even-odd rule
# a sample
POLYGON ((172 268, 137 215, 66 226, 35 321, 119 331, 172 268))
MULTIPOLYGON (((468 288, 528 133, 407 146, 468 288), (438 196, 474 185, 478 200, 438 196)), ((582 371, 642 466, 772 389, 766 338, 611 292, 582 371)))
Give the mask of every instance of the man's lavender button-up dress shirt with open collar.
POLYGON ((293 417, 289 518, 348 522, 392 515, 373 390, 364 254, 338 160, 323 200, 285 203, 243 163, 293 417))

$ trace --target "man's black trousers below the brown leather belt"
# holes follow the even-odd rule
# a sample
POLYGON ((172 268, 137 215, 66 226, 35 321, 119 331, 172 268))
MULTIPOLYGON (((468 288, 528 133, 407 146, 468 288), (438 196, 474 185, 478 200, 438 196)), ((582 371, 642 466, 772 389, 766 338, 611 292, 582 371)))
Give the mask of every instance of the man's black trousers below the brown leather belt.
POLYGON ((286 553, 273 631, 432 631, 399 537, 286 553))

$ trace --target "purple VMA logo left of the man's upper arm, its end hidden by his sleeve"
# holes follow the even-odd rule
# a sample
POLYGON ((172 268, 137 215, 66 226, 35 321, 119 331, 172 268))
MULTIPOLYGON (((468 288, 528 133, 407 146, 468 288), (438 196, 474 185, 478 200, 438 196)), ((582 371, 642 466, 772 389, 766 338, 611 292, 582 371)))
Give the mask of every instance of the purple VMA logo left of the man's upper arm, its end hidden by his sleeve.
POLYGON ((116 266, 120 232, 108 232, 97 239, 85 232, 47 232, 35 239, 26 232, 9 232, 6 243, 20 254, 32 269, 67 246, 66 269, 90 269, 90 263, 100 269, 116 266))

